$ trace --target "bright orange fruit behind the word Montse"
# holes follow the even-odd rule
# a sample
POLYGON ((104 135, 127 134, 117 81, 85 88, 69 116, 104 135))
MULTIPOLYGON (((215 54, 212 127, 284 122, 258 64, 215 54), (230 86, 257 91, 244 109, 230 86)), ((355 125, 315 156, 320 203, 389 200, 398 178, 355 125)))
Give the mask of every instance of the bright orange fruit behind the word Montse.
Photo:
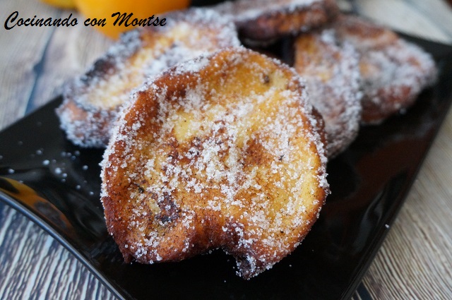
MULTIPOLYGON (((153 15, 155 18, 159 17, 162 19, 161 13, 166 11, 174 11, 181 8, 186 8, 190 4, 190 0, 172 0, 172 1, 162 1, 162 0, 134 0, 134 1, 124 1, 124 0, 75 0, 78 11, 80 11, 85 19, 79 20, 79 23, 88 22, 88 27, 93 27, 100 30, 105 35, 117 39, 121 32, 131 30, 133 27, 122 25, 113 25, 114 21, 117 20, 118 16, 112 17, 113 13, 119 12, 120 15, 126 13, 133 13, 133 16, 129 19, 129 24, 132 23, 134 18, 141 20, 143 18, 149 18, 153 15), (90 19, 89 21, 87 19, 90 19), (102 19, 105 18, 105 25, 96 25, 96 23, 102 24, 102 19), (94 20, 95 19, 95 20, 94 20), (92 26, 92 25, 93 26, 92 26)), ((151 23, 155 20, 151 20, 151 23)))

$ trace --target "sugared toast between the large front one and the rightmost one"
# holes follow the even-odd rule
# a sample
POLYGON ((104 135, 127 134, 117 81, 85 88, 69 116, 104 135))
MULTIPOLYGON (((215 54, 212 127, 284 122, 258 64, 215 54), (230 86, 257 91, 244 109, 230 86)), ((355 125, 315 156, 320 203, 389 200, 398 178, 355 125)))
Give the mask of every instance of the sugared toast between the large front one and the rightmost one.
POLYGON ((331 29, 299 35, 295 69, 307 80, 309 99, 325 120, 328 157, 355 140, 361 121, 359 56, 331 29))

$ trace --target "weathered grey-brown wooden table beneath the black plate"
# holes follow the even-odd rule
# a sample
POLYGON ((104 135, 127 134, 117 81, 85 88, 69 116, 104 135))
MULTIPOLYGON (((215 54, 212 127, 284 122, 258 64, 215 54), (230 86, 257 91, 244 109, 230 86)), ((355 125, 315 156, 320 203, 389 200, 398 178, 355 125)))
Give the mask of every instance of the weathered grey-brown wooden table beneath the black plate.
MULTIPOLYGON (((397 30, 452 44, 452 9, 441 0, 341 1, 397 30), (350 2, 352 4, 350 4, 350 2)), ((1 0, 0 20, 66 18, 37 0, 1 0)), ((73 28, 0 29, 0 128, 52 100, 110 40, 73 28)), ((452 88, 452 87, 451 87, 452 88)), ((0 143, 7 141, 0 140, 0 143)), ((452 112, 360 287, 373 299, 452 299, 452 112)), ((114 296, 49 234, 0 203, 0 299, 112 299, 114 296)), ((354 298, 359 299, 356 294, 354 298)))

